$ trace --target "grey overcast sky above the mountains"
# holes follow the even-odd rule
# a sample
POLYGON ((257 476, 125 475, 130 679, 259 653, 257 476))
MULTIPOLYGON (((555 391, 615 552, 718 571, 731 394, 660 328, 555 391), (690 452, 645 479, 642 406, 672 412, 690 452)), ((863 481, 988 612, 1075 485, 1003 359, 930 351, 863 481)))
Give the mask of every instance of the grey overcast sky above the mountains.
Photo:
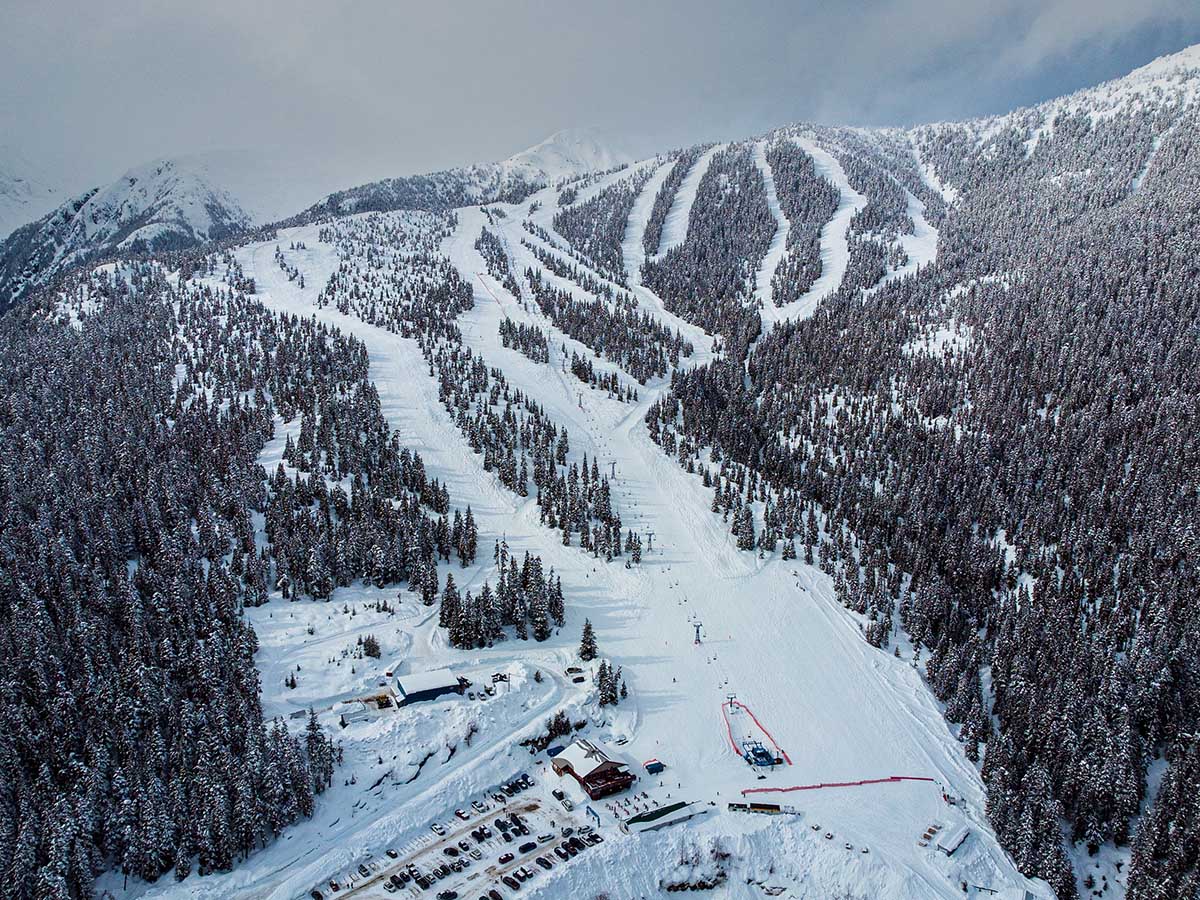
POLYGON ((1200 42, 1195 0, 0 0, 0 144, 70 180, 250 148, 341 184, 1004 112, 1200 42))

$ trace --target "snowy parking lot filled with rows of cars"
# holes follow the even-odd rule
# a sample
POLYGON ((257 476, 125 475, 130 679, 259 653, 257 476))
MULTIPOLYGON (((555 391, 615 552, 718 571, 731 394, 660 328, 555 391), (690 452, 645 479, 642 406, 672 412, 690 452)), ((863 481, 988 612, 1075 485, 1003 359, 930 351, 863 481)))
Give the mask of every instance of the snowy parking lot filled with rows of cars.
POLYGON ((533 797, 532 787, 532 779, 518 776, 468 798, 426 835, 388 848, 311 896, 503 900, 604 841, 559 804, 533 797))

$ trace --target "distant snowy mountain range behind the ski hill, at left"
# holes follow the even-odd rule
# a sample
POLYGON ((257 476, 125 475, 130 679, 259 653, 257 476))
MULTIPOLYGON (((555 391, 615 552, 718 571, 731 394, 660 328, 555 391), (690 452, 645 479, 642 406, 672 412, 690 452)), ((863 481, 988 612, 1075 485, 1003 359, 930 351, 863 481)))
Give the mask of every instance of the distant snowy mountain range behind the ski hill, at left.
MULTIPOLYGON (((500 162, 340 191, 301 217, 516 199, 560 179, 629 161, 592 130, 560 131, 500 162)), ((317 200, 322 184, 328 190, 328 176, 281 166, 256 151, 206 152, 138 166, 107 186, 60 200, 55 209, 53 192, 41 181, 10 178, 0 169, 0 229, 10 222, 13 229, 0 244, 0 310, 80 262, 126 248, 194 246, 278 221, 317 200)))

